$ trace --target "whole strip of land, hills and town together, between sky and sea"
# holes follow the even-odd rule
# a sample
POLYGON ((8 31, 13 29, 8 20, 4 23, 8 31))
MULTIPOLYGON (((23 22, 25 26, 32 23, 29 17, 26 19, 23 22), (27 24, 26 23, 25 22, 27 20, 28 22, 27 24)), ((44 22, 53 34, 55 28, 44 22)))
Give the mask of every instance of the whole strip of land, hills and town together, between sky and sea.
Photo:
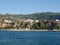
POLYGON ((0 29, 43 30, 60 29, 60 13, 0 14, 0 29))

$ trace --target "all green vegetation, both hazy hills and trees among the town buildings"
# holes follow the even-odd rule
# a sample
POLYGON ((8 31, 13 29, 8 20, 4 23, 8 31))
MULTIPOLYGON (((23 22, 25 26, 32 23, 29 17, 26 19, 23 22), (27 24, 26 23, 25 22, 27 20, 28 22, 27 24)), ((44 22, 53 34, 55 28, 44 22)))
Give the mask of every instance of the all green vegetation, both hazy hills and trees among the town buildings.
MULTIPOLYGON (((42 12, 42 13, 34 13, 34 14, 0 14, 0 20, 8 19, 12 21, 16 21, 18 19, 33 19, 40 20, 39 22, 34 21, 33 25, 30 29, 60 29, 60 26, 57 26, 53 20, 60 20, 60 13, 53 12, 42 12), (44 20, 47 20, 46 22, 44 20), (48 21, 49 20, 49 21, 48 21), (51 22, 50 22, 51 21, 51 22)), ((14 29, 14 28, 27 28, 27 24, 24 22, 18 22, 17 26, 14 27, 14 22, 10 23, 10 26, 5 26, 4 28, 0 27, 0 29, 14 29)))

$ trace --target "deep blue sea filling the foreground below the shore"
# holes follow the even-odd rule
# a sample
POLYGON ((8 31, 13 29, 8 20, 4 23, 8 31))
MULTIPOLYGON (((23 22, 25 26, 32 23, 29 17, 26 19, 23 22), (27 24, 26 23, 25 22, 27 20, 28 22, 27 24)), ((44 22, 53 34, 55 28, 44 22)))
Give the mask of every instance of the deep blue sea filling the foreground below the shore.
POLYGON ((60 32, 0 31, 0 45, 60 45, 60 32))

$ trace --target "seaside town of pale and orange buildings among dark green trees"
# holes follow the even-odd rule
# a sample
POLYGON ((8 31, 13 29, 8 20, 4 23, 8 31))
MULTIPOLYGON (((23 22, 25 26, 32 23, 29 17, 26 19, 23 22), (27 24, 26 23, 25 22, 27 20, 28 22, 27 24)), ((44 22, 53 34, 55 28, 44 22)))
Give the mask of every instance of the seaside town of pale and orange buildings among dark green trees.
POLYGON ((60 29, 60 20, 32 20, 32 19, 18 19, 18 20, 0 20, 0 29, 17 29, 17 30, 40 30, 40 29, 60 29))

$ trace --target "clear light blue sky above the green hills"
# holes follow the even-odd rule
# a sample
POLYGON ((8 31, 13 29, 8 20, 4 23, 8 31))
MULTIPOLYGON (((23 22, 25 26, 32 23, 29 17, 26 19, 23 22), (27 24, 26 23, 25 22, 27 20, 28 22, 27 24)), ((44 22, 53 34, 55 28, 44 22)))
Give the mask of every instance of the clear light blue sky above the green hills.
POLYGON ((60 12, 60 0, 0 0, 0 13, 60 12))

